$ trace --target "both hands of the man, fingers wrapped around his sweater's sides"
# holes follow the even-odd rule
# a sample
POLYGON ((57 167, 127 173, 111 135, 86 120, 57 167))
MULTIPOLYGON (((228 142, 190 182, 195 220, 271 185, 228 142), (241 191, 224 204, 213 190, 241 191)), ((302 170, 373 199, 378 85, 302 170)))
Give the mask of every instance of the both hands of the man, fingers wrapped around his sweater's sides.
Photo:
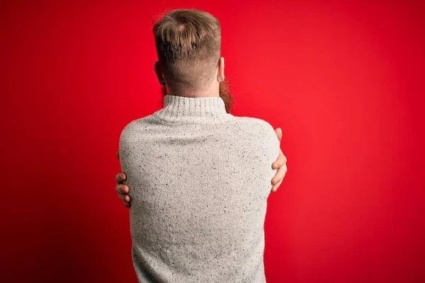
MULTIPOLYGON (((278 136, 279 142, 280 139, 282 139, 282 130, 280 128, 275 129, 276 136, 278 136)), ((120 160, 120 155, 117 151, 117 158, 120 160)), ((288 168, 286 166, 286 157, 283 155, 282 149, 280 149, 280 154, 278 156, 278 159, 273 162, 272 168, 276 169, 278 168, 278 171, 276 172, 276 175, 271 180, 271 184, 273 185, 271 187, 271 192, 276 192, 278 190, 278 187, 283 181, 283 178, 285 178, 286 171, 288 171, 288 168)), ((124 185, 123 182, 127 179, 127 176, 125 173, 120 172, 117 175, 115 175, 115 192, 117 192, 118 197, 120 200, 124 203, 125 207, 130 207, 130 196, 128 195, 128 192, 130 191, 130 187, 128 185, 124 185)))

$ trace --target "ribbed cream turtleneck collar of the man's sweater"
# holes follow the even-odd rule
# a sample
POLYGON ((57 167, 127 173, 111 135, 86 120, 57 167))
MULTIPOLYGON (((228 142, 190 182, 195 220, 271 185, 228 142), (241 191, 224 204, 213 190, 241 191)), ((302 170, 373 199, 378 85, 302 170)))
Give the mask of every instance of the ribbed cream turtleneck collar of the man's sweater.
POLYGON ((189 98, 166 95, 164 108, 154 112, 154 117, 179 124, 212 124, 229 120, 225 101, 220 96, 189 98))

